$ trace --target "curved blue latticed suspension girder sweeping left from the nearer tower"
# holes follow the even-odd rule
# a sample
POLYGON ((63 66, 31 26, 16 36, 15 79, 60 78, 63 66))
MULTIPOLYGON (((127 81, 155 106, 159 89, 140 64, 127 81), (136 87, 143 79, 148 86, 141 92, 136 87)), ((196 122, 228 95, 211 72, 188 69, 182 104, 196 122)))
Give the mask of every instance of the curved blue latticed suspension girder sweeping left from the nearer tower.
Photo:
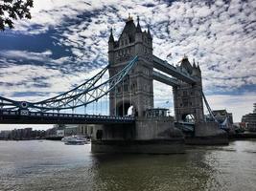
POLYGON ((86 106, 91 102, 97 102, 99 98, 105 96, 113 88, 115 88, 133 68, 137 60, 138 56, 135 56, 128 62, 127 66, 122 71, 113 75, 108 80, 105 80, 103 83, 100 82, 100 79, 102 79, 103 75, 107 71, 107 67, 105 67, 105 69, 103 69, 100 73, 94 75, 92 78, 86 80, 80 86, 61 95, 39 102, 15 101, 0 96, 0 109, 31 109, 46 112, 49 110, 60 111, 86 106))

